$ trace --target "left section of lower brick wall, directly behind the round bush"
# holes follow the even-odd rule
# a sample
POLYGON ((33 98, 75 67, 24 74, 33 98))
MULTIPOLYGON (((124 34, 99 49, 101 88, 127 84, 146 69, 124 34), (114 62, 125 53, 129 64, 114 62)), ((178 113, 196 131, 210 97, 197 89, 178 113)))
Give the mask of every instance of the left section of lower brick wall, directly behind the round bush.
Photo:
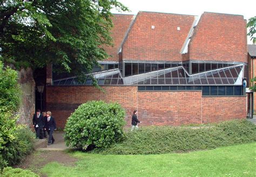
POLYGON ((47 110, 52 112, 58 127, 64 127, 66 119, 75 109, 89 100, 117 101, 126 110, 126 120, 137 109, 136 86, 105 86, 105 93, 92 86, 48 86, 47 110), (129 115, 129 117, 128 117, 129 115))

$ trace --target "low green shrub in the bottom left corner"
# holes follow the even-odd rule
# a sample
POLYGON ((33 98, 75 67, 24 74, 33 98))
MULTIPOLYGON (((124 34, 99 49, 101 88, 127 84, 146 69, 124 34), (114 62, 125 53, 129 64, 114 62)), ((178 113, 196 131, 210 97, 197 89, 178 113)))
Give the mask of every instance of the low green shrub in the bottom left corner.
POLYGON ((39 177, 36 173, 31 172, 28 169, 21 169, 21 168, 11 168, 5 167, 2 172, 3 177, 39 177))

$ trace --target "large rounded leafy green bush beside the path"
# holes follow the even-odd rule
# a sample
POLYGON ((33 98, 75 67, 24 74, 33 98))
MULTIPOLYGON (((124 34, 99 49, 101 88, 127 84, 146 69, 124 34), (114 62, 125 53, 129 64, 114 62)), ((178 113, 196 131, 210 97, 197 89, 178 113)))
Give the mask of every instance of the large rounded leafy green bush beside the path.
POLYGON ((118 103, 88 101, 73 112, 65 125, 65 142, 70 147, 104 148, 122 140, 125 111, 118 103))

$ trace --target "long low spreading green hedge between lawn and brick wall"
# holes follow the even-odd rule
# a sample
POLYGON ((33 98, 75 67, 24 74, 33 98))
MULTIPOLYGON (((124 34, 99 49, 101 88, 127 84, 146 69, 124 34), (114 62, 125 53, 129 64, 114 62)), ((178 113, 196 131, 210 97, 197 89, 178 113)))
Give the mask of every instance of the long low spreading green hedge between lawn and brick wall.
POLYGON ((255 141, 256 126, 247 120, 225 121, 200 127, 151 126, 142 127, 139 131, 127 132, 122 143, 115 144, 102 153, 180 153, 255 141))

